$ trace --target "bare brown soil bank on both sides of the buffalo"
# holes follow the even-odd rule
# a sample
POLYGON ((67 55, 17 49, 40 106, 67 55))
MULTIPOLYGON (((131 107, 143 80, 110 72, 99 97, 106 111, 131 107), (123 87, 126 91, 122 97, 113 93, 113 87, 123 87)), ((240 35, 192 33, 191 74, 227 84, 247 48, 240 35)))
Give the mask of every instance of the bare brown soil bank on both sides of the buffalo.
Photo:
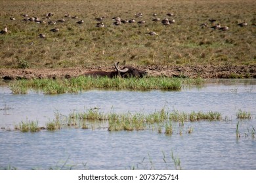
MULTIPOLYGON (((146 66, 137 67, 148 71, 148 76, 196 78, 256 78, 256 65, 241 66, 146 66)), ((0 69, 0 78, 70 78, 89 71, 114 71, 114 67, 59 68, 59 69, 0 69)))

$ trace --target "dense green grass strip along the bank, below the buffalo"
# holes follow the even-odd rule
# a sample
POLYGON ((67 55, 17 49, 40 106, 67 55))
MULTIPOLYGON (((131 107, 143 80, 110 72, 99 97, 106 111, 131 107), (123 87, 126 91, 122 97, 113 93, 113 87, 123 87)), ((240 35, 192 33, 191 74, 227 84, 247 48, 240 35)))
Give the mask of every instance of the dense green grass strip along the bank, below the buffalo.
POLYGON ((79 76, 69 79, 15 80, 9 84, 12 93, 28 93, 29 90, 43 91, 45 94, 78 93, 93 88, 116 90, 181 90, 182 85, 202 84, 202 78, 107 78, 79 76))

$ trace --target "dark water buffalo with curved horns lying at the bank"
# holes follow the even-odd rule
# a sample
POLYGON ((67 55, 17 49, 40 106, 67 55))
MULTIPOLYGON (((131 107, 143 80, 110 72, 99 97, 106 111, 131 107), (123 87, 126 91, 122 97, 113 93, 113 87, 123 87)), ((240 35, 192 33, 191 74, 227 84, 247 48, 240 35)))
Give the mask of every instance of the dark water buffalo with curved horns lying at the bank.
POLYGON ((107 76, 108 78, 113 78, 116 76, 121 76, 122 78, 131 78, 131 77, 139 77, 142 78, 146 75, 146 71, 142 71, 136 69, 132 66, 125 66, 122 69, 118 67, 118 63, 115 63, 116 71, 90 71, 85 73, 85 76, 107 76))

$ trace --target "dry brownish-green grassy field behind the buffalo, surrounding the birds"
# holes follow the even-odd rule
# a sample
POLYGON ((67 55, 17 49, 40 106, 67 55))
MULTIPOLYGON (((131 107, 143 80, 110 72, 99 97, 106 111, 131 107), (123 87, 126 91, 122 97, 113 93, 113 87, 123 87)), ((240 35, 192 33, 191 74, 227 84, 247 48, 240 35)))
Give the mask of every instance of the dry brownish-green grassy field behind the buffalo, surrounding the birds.
POLYGON ((113 65, 250 65, 256 58, 256 2, 185 0, 1 0, 0 68, 56 68, 113 65), (52 12, 51 20, 46 14, 52 12), (142 13, 136 18, 136 13, 142 13), (174 16, 167 16, 171 12, 174 16), (153 22, 174 19, 163 25, 153 22), (44 20, 45 24, 24 21, 22 14, 44 20), (66 18, 65 14, 77 16, 66 18), (104 16, 105 27, 95 27, 95 18, 104 16), (113 17, 135 18, 145 24, 114 25, 113 17), (16 20, 11 20, 15 18, 16 20), (214 18, 228 31, 213 30, 214 18), (64 19, 55 25, 49 21, 64 19), (83 20, 83 24, 76 24, 83 20), (247 26, 237 24, 247 22, 247 26), (202 28, 207 23, 209 27, 202 28), (54 33, 50 29, 58 27, 54 33), (155 31, 158 35, 148 35, 155 31), (45 34, 46 38, 38 35, 45 34))

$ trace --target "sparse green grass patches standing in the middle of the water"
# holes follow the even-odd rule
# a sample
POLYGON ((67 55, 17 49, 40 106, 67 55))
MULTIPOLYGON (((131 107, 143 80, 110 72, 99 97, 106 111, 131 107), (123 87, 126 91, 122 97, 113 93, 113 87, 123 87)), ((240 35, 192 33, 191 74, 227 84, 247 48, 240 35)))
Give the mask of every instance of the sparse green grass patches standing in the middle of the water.
MULTIPOLYGON (((157 130, 158 133, 166 135, 173 134, 173 125, 179 124, 179 127, 184 126, 184 122, 195 122, 200 120, 217 121, 221 120, 219 112, 178 112, 167 111, 165 108, 151 114, 131 113, 117 114, 110 112, 98 112, 98 109, 89 109, 83 112, 71 112, 68 116, 64 116, 58 112, 55 113, 53 122, 47 122, 46 127, 38 127, 37 122, 21 122, 15 125, 15 129, 22 132, 39 131, 47 129, 54 131, 62 127, 81 127, 82 129, 95 129, 95 127, 107 128, 108 131, 133 131, 133 130, 157 130), (196 119, 190 118, 191 115, 196 115, 196 119)), ((193 128, 188 127, 186 133, 192 133, 193 128)), ((182 135, 182 132, 179 132, 182 135)))

